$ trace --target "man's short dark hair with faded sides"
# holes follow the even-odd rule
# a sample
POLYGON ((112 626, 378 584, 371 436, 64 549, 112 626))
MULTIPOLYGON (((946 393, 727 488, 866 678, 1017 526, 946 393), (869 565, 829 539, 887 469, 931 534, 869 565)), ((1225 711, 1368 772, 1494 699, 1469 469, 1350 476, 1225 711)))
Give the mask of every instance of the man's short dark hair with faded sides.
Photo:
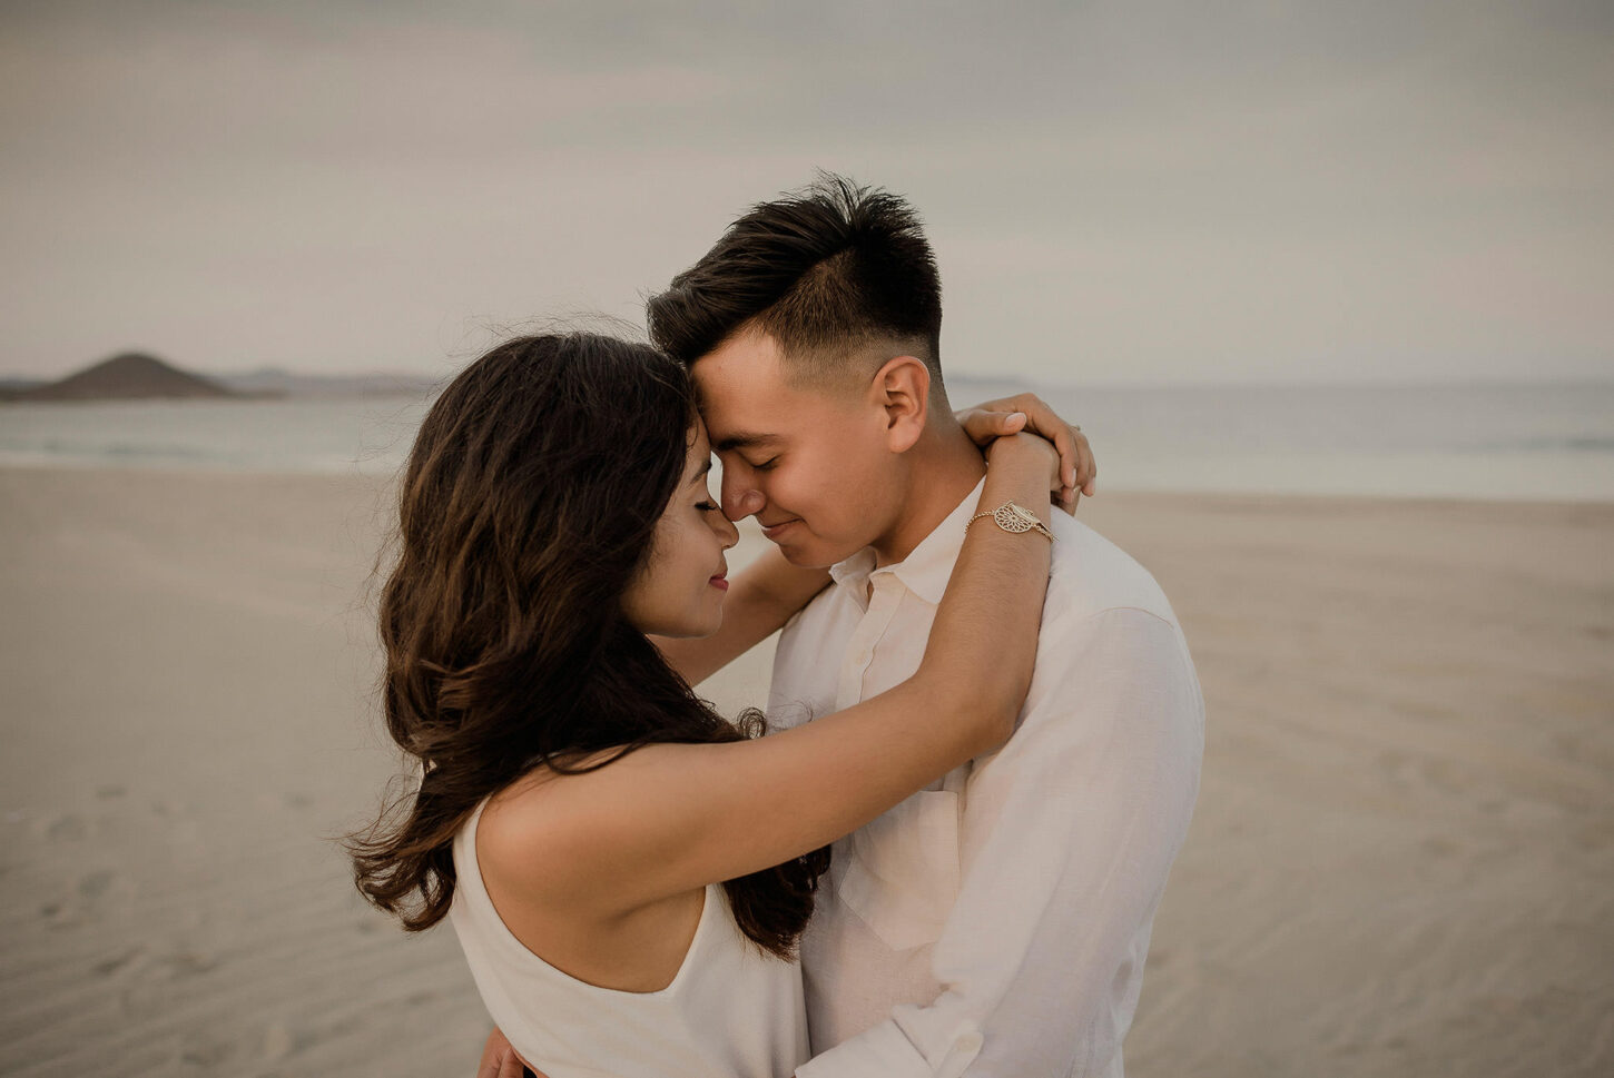
POLYGON ((870 345, 889 344, 941 391, 941 274, 918 213, 844 176, 752 207, 647 316, 655 345, 684 365, 760 329, 792 381, 843 381, 870 345))

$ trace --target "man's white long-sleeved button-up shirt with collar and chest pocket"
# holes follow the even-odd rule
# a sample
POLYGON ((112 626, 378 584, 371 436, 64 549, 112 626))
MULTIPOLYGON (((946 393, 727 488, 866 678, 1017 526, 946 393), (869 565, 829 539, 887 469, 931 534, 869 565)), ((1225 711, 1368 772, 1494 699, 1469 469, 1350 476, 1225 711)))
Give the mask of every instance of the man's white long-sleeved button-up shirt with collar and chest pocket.
MULTIPOLYGON (((918 668, 980 491, 904 562, 875 568, 863 550, 831 570, 780 639, 775 725, 918 668)), ((1204 704, 1154 578, 1064 513, 1052 531, 1014 737, 834 844, 802 938, 817 1055, 801 1078, 1123 1073, 1204 704)))

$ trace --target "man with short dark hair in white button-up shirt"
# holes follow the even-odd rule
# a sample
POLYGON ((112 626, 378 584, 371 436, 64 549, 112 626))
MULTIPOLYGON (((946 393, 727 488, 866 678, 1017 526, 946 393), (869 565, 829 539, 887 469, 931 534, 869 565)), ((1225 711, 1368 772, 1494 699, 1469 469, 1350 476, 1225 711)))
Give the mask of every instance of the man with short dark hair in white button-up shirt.
MULTIPOLYGON (((825 178, 736 221, 649 320, 699 387, 725 512, 833 566, 780 639, 770 720, 905 679, 964 529, 996 526, 972 521, 985 468, 947 405, 917 216, 825 178)), ((1154 579, 1075 520, 1047 524, 1017 733, 834 844, 802 939, 801 1078, 1123 1073, 1204 705, 1154 579)))

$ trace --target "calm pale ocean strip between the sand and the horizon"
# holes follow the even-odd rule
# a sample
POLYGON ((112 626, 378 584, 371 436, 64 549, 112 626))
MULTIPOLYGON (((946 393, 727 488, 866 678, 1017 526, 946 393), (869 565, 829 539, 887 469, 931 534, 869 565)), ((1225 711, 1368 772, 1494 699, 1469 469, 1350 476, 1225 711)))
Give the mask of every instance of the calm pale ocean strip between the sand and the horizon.
MULTIPOLYGON (((997 382, 955 379, 954 403, 997 382)), ((1614 500, 1614 382, 1041 386, 1114 491, 1614 500)), ((397 470, 420 397, 0 405, 0 465, 397 470)))

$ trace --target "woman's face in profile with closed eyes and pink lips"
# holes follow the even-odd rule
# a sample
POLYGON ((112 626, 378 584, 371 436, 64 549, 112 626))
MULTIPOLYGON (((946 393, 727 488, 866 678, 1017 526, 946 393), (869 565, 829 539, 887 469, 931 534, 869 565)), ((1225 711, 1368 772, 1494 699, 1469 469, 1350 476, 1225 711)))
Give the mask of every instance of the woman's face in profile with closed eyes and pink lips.
POLYGON ((628 621, 652 636, 710 636, 723 625, 728 565, 739 531, 707 489, 712 447, 696 420, 684 474, 655 524, 655 547, 621 599, 628 621))

